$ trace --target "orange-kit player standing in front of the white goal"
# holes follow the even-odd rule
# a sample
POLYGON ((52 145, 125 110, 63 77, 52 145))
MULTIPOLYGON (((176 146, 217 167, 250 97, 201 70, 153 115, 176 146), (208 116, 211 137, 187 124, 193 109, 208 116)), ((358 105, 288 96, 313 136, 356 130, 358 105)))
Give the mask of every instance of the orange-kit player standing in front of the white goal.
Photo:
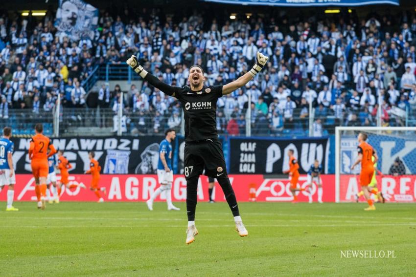
POLYGON ((364 196, 369 203, 369 207, 364 209, 365 211, 374 211, 375 206, 373 201, 370 198, 370 193, 373 188, 369 187, 371 183, 372 176, 374 174, 374 163, 377 162, 378 157, 377 153, 368 144, 367 141, 367 134, 359 133, 358 134, 358 157, 355 163, 351 166, 351 170, 354 169, 356 165, 361 162, 361 171, 360 171, 360 185, 361 189, 364 192, 364 196), (374 159, 372 157, 374 156, 374 159))

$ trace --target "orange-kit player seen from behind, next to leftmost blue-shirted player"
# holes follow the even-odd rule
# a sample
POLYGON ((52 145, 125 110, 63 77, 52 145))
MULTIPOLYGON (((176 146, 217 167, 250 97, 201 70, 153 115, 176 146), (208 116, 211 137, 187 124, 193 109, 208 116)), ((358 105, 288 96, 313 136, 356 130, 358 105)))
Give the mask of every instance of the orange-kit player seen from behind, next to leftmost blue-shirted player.
POLYGON ((35 192, 38 199, 38 209, 45 210, 46 203, 46 178, 49 172, 47 158, 56 153, 56 149, 50 143, 50 139, 42 133, 44 127, 41 123, 35 126, 35 135, 30 141, 29 159, 31 160, 33 177, 35 177, 35 192), (47 154, 49 149, 49 154, 47 154))

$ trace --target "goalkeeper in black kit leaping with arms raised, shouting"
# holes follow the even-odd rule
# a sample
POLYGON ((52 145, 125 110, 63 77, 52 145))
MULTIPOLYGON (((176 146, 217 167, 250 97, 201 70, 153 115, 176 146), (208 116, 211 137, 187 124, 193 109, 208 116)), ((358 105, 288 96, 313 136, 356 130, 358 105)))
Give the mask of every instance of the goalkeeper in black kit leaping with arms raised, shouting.
POLYGON ((188 228, 186 244, 195 240, 198 230, 195 227, 195 209, 197 204, 198 178, 205 169, 205 174, 216 178, 220 184, 227 203, 234 216, 235 229, 240 236, 249 233, 241 220, 237 200, 228 178, 221 142, 216 128, 216 105, 219 97, 230 94, 246 85, 267 63, 269 58, 257 52, 256 63, 249 72, 227 85, 205 86, 204 70, 199 65, 189 68, 189 86, 171 86, 161 82, 148 73, 135 56, 127 60, 133 70, 150 85, 163 93, 177 98, 184 110, 185 117, 185 158, 186 212, 188 228))

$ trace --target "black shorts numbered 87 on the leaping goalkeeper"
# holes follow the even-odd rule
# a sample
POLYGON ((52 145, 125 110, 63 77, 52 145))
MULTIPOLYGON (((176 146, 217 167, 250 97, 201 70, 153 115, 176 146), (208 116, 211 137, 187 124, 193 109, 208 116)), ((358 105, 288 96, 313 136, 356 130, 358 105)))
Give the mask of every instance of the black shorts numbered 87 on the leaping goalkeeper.
POLYGON ((199 176, 205 169, 205 175, 212 178, 227 177, 224 152, 218 139, 207 139, 185 143, 185 178, 199 176))

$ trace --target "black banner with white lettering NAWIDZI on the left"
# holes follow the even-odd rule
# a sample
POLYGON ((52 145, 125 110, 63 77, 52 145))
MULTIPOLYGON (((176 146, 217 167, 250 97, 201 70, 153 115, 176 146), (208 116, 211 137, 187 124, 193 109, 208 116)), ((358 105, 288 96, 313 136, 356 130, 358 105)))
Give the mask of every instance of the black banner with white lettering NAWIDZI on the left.
MULTIPOLYGON (((55 149, 64 150, 72 168, 69 174, 90 169, 89 151, 101 165, 103 174, 156 174, 159 144, 164 137, 65 137, 51 138, 55 149)), ((13 163, 17 173, 31 173, 28 149, 30 138, 11 139, 14 142, 13 163)))

